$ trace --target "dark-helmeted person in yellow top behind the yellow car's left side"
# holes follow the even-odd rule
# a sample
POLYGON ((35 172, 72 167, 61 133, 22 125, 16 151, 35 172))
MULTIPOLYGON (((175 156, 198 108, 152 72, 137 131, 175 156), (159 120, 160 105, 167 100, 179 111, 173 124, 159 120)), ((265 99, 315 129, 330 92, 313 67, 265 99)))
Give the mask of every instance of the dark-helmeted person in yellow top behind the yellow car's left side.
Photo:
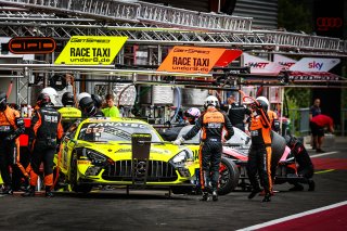
POLYGON ((73 125, 76 119, 81 117, 81 112, 79 108, 76 108, 74 94, 72 92, 65 92, 62 97, 62 108, 59 112, 62 115, 62 124, 64 131, 66 131, 70 125, 73 125))

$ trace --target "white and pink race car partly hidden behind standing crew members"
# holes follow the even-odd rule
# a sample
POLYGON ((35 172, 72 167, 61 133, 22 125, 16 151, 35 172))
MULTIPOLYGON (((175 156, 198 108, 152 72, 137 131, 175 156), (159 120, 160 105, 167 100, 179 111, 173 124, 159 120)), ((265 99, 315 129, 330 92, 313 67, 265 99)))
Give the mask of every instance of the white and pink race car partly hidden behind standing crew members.
MULTIPOLYGON (((185 134, 193 125, 183 127, 177 137, 185 134)), ((246 171, 248 161, 248 150, 250 146, 250 138, 237 128, 234 129, 234 136, 226 142, 222 151, 221 165, 219 167, 219 189, 218 194, 224 195, 235 190, 237 187, 243 191, 249 191, 250 184, 246 171)), ((297 166, 294 155, 285 144, 285 139, 277 132, 271 133, 272 137, 272 169, 274 183, 300 182, 301 177, 297 176, 297 166)), ((194 153, 194 159, 198 159, 200 133, 191 140, 184 141, 194 153)))

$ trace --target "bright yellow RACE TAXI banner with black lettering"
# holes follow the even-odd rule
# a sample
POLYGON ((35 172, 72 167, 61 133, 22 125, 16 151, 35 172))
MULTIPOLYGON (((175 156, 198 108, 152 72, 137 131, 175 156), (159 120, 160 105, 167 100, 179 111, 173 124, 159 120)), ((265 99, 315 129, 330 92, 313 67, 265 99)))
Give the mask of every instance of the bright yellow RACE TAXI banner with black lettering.
POLYGON ((118 36, 73 36, 55 64, 110 65, 127 39, 118 36))

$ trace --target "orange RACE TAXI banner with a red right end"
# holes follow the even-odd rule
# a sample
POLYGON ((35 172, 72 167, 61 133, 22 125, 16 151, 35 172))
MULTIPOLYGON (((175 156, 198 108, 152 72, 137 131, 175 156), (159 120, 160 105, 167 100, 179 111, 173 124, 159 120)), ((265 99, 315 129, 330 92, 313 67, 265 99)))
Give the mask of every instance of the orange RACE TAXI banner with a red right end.
POLYGON ((207 74, 216 65, 228 65, 241 50, 176 46, 158 67, 158 72, 207 74), (227 55, 223 55, 227 51, 227 55))

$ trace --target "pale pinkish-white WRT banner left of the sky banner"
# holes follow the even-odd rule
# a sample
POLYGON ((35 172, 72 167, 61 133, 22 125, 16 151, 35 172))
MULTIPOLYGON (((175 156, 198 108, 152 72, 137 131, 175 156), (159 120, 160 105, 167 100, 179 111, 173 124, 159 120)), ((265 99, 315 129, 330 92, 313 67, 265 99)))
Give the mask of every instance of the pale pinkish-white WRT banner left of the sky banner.
POLYGON ((243 53, 243 61, 245 66, 249 66, 250 74, 278 75, 283 69, 279 64, 247 53, 243 53))

